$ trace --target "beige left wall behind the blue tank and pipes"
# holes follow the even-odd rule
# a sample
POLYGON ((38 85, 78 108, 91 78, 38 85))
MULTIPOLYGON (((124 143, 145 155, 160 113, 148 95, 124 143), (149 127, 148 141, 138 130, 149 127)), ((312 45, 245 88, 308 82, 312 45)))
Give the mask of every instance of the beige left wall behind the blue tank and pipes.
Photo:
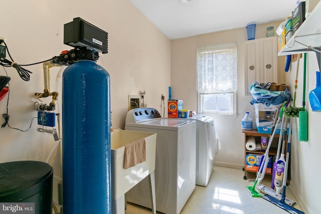
MULTIPOLYGON (((6 38, 18 64, 47 60, 58 56, 62 50, 71 50, 72 47, 63 44, 63 27, 73 18, 81 17, 108 32, 109 53, 100 55, 97 63, 107 69, 111 78, 113 128, 124 128, 128 95, 138 95, 145 90, 144 103, 161 110, 161 94, 167 94, 170 85, 171 43, 129 1, 12 0, 2 2, 1 8, 0 36, 6 38)), ((12 78, 9 124, 23 130, 28 129, 32 118, 37 116, 33 94, 44 90, 42 64, 25 68, 33 72, 29 82, 23 81, 13 68, 6 68, 12 78)), ((61 82, 55 82, 58 70, 51 69, 51 90, 61 92, 61 82)), ((0 75, 6 75, 2 67, 0 75)), ((0 101, 1 114, 6 113, 7 97, 0 101)), ((49 104, 51 98, 43 101, 49 104)), ((59 100, 58 104, 56 112, 61 109, 59 100)), ((0 123, 3 122, 1 117, 0 123)), ((1 128, 0 162, 46 161, 57 142, 52 136, 37 132, 37 127, 35 119, 26 132, 8 126, 1 128)), ((54 150, 49 163, 54 167, 55 176, 60 177, 58 151, 58 148, 54 150)), ((56 196, 54 200, 57 201, 56 196)))

